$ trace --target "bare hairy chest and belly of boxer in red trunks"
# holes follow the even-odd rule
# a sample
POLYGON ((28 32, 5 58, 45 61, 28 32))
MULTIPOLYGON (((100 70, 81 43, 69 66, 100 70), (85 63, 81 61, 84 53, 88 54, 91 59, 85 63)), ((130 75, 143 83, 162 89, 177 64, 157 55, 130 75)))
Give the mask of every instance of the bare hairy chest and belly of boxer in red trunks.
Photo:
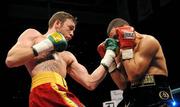
MULTIPOLYGON (((34 39, 34 42, 38 43, 45 38, 45 36, 39 35, 34 39)), ((26 63, 25 66, 31 76, 34 76, 39 72, 52 71, 57 72, 62 77, 65 77, 67 73, 67 65, 69 65, 71 62, 71 58, 67 58, 68 55, 69 52, 67 51, 56 52, 52 55, 49 52, 42 53, 26 63), (56 56, 56 58, 54 58, 54 56, 56 56)))

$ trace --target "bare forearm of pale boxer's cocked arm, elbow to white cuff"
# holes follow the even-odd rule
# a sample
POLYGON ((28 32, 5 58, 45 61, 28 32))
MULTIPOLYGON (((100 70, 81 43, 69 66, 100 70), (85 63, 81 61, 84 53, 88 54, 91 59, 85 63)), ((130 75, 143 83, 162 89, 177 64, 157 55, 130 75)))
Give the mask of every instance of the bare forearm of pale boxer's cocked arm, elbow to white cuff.
POLYGON ((34 57, 32 48, 18 47, 8 52, 6 65, 8 67, 18 67, 25 64, 34 57))

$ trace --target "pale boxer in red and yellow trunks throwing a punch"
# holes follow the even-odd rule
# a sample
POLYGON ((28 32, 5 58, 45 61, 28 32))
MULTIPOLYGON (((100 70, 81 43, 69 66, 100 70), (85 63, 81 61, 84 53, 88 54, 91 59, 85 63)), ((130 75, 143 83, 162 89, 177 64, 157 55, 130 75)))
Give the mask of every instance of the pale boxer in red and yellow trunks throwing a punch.
POLYGON ((9 68, 24 65, 32 77, 29 107, 85 107, 68 90, 66 76, 94 90, 107 74, 118 48, 115 39, 107 39, 106 55, 92 72, 80 64, 70 51, 66 51, 68 41, 74 36, 76 18, 60 11, 52 15, 46 34, 36 29, 25 30, 9 50, 6 65, 9 68))

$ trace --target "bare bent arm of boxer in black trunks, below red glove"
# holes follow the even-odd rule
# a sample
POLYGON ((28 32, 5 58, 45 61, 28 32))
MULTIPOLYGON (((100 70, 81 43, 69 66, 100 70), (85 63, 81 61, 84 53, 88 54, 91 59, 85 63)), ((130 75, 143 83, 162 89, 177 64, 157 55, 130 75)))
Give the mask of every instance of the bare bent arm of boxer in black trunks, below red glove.
POLYGON ((134 58, 123 61, 128 80, 133 81, 145 74, 158 49, 159 43, 155 38, 148 37, 141 40, 134 58))

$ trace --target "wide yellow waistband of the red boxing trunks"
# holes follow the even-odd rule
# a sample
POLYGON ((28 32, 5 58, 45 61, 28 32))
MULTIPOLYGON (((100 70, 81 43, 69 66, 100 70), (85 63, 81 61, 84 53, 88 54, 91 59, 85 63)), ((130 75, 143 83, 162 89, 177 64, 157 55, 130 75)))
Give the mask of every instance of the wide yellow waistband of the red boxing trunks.
POLYGON ((56 83, 68 89, 65 79, 60 74, 53 71, 43 71, 32 77, 31 90, 45 83, 56 83))

